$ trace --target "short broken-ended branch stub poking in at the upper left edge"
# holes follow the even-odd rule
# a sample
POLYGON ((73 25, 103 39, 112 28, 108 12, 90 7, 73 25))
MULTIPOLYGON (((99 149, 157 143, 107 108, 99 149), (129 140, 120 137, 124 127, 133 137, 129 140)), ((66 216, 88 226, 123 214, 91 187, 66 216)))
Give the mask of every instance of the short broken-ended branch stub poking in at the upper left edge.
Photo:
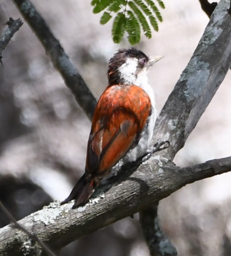
POLYGON ((13 35, 19 30, 23 22, 18 20, 13 20, 9 18, 9 21, 5 25, 8 25, 8 28, 2 33, 0 37, 0 63, 2 64, 2 52, 6 48, 7 44, 10 42, 13 35))

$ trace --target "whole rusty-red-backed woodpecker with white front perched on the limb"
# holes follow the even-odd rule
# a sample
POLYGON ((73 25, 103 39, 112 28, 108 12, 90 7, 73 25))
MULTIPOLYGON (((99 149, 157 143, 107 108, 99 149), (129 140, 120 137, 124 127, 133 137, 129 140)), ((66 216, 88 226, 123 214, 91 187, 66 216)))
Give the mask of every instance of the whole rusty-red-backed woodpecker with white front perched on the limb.
POLYGON ((129 48, 109 60, 108 87, 94 112, 85 173, 61 204, 73 199, 73 208, 85 204, 119 160, 133 162, 147 152, 157 117, 147 74, 161 58, 129 48))

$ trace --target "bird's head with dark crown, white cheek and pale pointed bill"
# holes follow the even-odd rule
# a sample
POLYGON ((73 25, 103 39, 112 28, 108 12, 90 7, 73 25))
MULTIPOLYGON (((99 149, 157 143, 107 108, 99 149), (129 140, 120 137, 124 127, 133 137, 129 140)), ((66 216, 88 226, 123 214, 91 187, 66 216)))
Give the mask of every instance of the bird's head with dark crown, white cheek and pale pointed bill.
POLYGON ((135 48, 119 49, 109 60, 109 86, 115 84, 135 84, 140 86, 147 80, 149 68, 162 56, 147 57, 142 51, 135 48))

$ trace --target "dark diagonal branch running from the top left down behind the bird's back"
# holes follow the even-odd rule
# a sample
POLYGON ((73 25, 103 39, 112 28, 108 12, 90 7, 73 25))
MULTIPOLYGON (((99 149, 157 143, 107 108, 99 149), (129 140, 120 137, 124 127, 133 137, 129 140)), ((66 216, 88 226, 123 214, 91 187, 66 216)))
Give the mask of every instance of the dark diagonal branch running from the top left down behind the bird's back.
POLYGON ((89 119, 92 119, 96 106, 96 99, 67 54, 64 52, 59 41, 52 34, 43 18, 29 0, 12 1, 17 5, 19 11, 37 35, 54 67, 62 75, 67 87, 74 94, 80 107, 85 111, 89 119))

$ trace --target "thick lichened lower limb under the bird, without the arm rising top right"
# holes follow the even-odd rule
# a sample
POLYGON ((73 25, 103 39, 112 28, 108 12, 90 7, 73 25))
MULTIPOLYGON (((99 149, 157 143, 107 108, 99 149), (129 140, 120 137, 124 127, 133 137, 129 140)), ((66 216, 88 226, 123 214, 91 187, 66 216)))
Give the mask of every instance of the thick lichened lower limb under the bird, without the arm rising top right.
MULTIPOLYGON (((72 203, 60 206, 55 202, 18 223, 52 250, 58 250, 84 235, 144 210, 188 183, 231 170, 231 157, 183 169, 169 162, 163 165, 164 161, 166 159, 156 157, 119 174, 113 178, 113 185, 101 186, 96 198, 84 207, 72 210, 72 203)), ((13 255, 14 252, 18 256, 31 255, 25 254, 25 244, 28 243, 31 251, 36 247, 33 255, 39 255, 38 246, 31 244, 24 232, 10 225, 0 229, 0 255, 13 255)))

